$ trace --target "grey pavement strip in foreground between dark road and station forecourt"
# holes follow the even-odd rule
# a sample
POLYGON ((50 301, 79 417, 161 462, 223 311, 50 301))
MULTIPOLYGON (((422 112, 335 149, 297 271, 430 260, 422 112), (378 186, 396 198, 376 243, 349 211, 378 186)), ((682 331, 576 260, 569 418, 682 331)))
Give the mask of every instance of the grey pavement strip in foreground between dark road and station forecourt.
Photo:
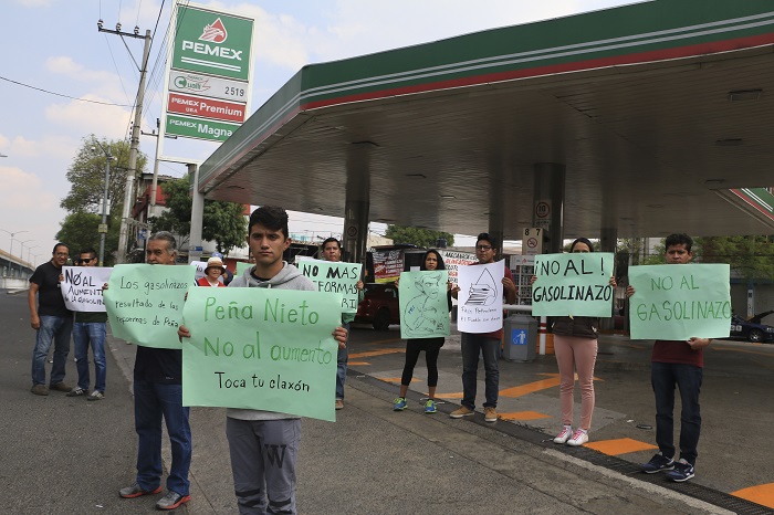
MULTIPOLYGON (((111 338, 109 348, 130 383, 134 346, 111 338)), ((394 392, 356 369, 346 388, 336 423, 304 419, 299 513, 733 513, 595 465, 590 450, 541 445, 519 425, 450 419, 451 403, 425 416, 418 392, 396 413, 394 392)), ((188 513, 236 513, 224 419, 222 409, 191 409, 188 513)))

